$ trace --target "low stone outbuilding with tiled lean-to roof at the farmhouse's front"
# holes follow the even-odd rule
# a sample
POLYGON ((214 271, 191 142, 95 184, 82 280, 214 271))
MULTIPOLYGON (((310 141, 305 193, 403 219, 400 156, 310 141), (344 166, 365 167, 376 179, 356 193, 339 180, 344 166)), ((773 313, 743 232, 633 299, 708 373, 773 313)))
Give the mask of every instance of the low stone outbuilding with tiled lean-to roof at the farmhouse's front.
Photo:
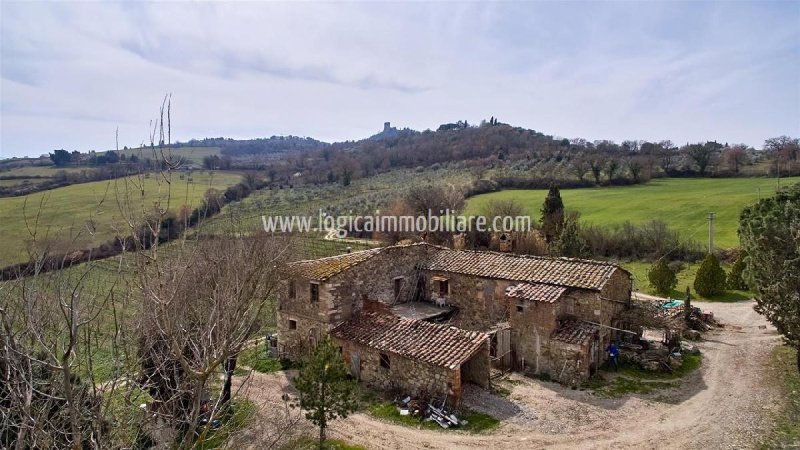
POLYGON ((331 330, 351 373, 403 394, 461 398, 462 382, 489 387, 489 336, 376 312, 331 330))

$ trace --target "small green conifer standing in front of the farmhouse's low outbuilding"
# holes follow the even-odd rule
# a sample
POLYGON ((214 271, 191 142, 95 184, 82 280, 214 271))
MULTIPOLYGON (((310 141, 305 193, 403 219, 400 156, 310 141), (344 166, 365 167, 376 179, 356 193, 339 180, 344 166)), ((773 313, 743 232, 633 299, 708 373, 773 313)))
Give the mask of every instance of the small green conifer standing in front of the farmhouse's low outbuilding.
POLYGON ((307 411, 306 419, 319 427, 322 447, 328 421, 347 417, 357 406, 355 382, 347 379, 339 349, 328 338, 306 359, 295 387, 300 391, 300 407, 307 411))

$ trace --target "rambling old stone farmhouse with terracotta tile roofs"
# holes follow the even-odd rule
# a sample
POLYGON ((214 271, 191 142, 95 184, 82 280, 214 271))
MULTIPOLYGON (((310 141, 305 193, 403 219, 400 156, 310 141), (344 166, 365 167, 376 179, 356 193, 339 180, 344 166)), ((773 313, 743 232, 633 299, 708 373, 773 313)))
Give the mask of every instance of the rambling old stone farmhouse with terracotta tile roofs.
POLYGON ((294 262, 281 283, 281 354, 329 335, 359 380, 456 401, 463 382, 487 387, 490 367, 588 378, 631 297, 612 263, 426 243, 294 262))

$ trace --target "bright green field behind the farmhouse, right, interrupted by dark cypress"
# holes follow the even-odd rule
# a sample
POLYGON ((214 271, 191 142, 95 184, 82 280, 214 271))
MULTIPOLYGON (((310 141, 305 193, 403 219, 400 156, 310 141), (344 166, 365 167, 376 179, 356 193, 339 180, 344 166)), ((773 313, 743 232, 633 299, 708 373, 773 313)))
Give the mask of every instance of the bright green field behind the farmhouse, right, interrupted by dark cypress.
MULTIPOLYGON (((800 182, 800 177, 781 179, 781 186, 800 182)), ((739 245, 736 230, 742 208, 775 192, 774 178, 664 178, 647 184, 590 189, 564 189, 567 210, 580 211, 584 222, 596 225, 644 223, 662 220, 684 238, 705 242, 709 211, 716 213, 714 244, 739 245)), ((505 190, 473 197, 467 214, 480 214, 496 200, 513 199, 538 220, 546 190, 505 190)))

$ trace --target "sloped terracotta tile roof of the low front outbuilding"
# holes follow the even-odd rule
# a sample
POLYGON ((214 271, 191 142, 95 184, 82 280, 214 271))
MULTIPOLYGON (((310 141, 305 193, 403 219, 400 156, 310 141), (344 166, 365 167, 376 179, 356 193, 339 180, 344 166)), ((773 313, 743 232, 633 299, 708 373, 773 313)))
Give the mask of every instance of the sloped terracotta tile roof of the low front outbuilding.
POLYGON ((331 335, 448 369, 458 368, 489 338, 477 331, 374 312, 356 314, 331 335))

